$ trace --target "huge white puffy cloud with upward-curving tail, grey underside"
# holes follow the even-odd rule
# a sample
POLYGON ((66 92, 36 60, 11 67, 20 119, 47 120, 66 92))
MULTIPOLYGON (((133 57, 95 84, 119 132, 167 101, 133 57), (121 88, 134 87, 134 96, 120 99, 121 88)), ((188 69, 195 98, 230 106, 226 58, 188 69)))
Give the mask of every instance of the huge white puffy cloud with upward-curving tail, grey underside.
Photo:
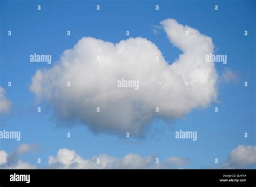
POLYGON ((37 70, 30 91, 48 103, 62 124, 81 122, 96 132, 135 136, 154 117, 176 119, 206 107, 217 95, 214 64, 205 62, 206 54, 213 53, 212 39, 174 19, 160 25, 183 52, 173 64, 145 38, 113 44, 84 37, 52 68, 37 70), (118 88, 122 79, 138 80, 139 89, 118 88))

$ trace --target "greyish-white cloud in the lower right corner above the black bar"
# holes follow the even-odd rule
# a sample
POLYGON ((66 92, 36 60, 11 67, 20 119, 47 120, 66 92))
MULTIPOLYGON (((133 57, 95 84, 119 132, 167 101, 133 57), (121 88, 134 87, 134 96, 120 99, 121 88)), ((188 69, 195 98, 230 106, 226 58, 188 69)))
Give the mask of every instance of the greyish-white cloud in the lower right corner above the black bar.
POLYGON ((256 146, 239 145, 233 149, 226 162, 221 164, 223 169, 244 169, 256 165, 256 146))

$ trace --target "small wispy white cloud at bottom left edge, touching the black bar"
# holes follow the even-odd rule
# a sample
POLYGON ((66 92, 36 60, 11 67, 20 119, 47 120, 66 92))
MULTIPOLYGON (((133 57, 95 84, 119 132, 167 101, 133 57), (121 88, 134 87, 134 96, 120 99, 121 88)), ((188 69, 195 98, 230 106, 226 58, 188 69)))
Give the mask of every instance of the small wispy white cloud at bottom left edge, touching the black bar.
POLYGON ((33 144, 21 144, 12 153, 7 154, 4 150, 0 150, 0 169, 36 169, 34 165, 19 160, 18 157, 35 149, 33 144))

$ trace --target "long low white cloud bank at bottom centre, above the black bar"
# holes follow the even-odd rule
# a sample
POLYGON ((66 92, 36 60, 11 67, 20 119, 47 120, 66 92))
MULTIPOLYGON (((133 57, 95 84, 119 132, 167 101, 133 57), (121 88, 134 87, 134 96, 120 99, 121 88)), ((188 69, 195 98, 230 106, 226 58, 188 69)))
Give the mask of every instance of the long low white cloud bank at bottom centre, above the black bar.
POLYGON ((56 157, 50 156, 48 162, 49 167, 55 169, 164 169, 182 167, 187 165, 189 160, 170 157, 163 162, 156 163, 156 158, 153 156, 141 157, 132 153, 123 158, 104 154, 85 160, 74 150, 64 148, 58 150, 56 157))

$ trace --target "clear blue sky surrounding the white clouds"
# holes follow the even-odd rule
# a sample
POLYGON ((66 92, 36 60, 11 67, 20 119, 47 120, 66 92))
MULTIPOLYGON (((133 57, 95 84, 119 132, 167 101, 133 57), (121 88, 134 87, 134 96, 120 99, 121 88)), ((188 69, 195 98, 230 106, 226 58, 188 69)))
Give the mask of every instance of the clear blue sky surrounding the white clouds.
MULTIPOLYGON (((239 144, 255 146, 255 2, 253 1, 1 1, 1 84, 12 102, 11 113, 1 116, 1 129, 20 130, 21 141, 0 140, 0 150, 10 153, 22 143, 35 143, 40 149, 21 159, 46 167, 48 156, 58 149, 74 149, 84 158, 127 153, 189 158, 186 168, 218 167, 239 144), (41 11, 37 11, 37 5, 41 11), (100 5, 100 11, 96 5, 100 5), (158 4, 160 10, 156 11, 158 4), (218 4, 218 11, 214 5, 218 4), (94 134, 87 126, 57 126, 52 114, 37 113, 36 97, 29 91, 36 70, 51 68, 62 52, 72 49, 82 37, 95 37, 118 43, 130 37, 143 37, 157 45, 165 60, 172 63, 181 51, 170 44, 166 33, 153 33, 152 26, 173 18, 211 37, 214 52, 227 54, 227 64, 215 64, 219 77, 225 68, 237 72, 236 82, 218 82, 218 103, 193 109, 178 120, 155 120, 144 138, 94 134), (11 30, 12 36, 8 36, 11 30), (71 36, 66 36, 66 31, 71 36), (248 36, 244 36, 244 31, 248 36), (32 64, 30 54, 51 54, 52 64, 32 64), (12 86, 8 87, 8 81, 12 86), (244 81, 248 86, 244 87, 244 81), (214 112, 214 107, 219 112, 214 112), (176 130, 196 130, 198 140, 179 140, 176 130), (71 138, 66 133, 71 133, 71 138), (244 133, 248 137, 244 137, 244 133), (37 158, 42 159, 37 164, 37 158), (214 158, 219 158, 219 164, 214 158)), ((44 108, 45 107, 45 108, 44 108)), ((45 110, 44 110, 45 109, 45 110)), ((255 168, 255 165, 250 166, 255 168)), ((249 167, 249 168, 250 168, 249 167)))

